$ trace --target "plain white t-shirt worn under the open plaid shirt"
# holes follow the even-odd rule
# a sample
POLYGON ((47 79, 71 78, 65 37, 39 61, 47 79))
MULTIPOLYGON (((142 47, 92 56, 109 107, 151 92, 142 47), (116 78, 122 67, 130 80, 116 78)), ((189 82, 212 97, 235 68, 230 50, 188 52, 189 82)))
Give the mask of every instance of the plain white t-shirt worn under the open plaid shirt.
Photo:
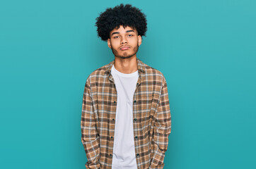
POLYGON ((117 89, 112 169, 137 169, 132 104, 139 73, 120 73, 112 65, 111 74, 117 89))

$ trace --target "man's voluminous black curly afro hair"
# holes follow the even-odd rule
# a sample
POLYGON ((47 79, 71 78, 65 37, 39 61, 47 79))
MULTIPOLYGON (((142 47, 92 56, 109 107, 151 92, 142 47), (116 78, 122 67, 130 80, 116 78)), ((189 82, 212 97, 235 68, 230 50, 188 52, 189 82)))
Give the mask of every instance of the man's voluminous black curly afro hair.
POLYGON ((110 32, 122 25, 124 28, 129 26, 138 32, 138 35, 146 37, 146 15, 139 8, 130 4, 120 4, 114 8, 107 8, 105 12, 100 13, 96 18, 98 37, 103 41, 110 38, 110 32))

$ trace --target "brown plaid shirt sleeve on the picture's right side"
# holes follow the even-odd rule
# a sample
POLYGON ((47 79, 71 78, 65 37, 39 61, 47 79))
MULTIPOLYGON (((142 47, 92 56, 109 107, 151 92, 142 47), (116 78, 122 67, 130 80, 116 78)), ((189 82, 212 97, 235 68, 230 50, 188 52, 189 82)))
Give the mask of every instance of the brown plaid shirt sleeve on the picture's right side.
POLYGON ((161 96, 154 115, 153 139, 153 156, 149 169, 163 168, 163 158, 168 147, 168 137, 171 131, 170 105, 168 99, 168 90, 166 82, 163 83, 161 96))

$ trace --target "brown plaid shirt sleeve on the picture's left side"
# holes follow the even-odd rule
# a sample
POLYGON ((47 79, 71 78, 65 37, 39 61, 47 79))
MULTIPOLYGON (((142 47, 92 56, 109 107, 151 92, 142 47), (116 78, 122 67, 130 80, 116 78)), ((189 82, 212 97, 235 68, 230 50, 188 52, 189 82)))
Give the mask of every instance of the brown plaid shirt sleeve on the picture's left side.
POLYGON ((95 123, 91 87, 88 81, 86 81, 83 92, 81 133, 81 140, 87 156, 86 168, 100 168, 100 163, 98 163, 100 158, 100 137, 95 123))

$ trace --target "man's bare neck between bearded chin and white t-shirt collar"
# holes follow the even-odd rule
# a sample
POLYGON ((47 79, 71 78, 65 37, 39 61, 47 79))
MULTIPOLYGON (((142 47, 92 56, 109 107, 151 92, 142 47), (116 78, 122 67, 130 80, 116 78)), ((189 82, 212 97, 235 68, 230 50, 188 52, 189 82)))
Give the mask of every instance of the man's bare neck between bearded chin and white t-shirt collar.
POLYGON ((136 55, 131 58, 120 58, 115 56, 114 66, 120 73, 129 74, 136 72, 136 70, 138 70, 136 55))

